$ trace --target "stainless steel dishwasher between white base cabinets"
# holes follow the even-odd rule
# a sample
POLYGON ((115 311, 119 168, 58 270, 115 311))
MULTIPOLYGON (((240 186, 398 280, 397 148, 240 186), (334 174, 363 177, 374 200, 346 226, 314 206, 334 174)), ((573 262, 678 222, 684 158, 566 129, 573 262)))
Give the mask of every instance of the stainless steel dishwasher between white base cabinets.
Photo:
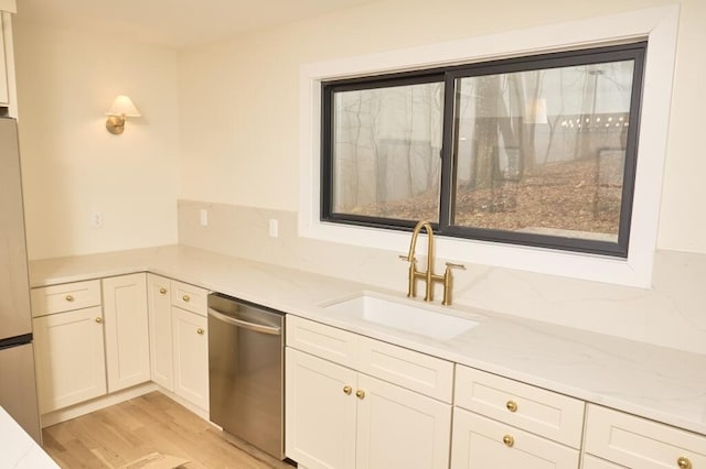
POLYGON ((208 295, 211 422, 282 459, 285 315, 208 295))

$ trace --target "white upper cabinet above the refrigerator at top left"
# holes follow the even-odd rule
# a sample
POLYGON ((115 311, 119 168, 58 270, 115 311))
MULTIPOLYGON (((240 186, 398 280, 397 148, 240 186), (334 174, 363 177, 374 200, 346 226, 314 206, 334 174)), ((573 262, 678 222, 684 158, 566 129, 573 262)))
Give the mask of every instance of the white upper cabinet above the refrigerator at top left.
POLYGON ((0 117, 18 117, 12 46, 14 0, 0 0, 0 117))

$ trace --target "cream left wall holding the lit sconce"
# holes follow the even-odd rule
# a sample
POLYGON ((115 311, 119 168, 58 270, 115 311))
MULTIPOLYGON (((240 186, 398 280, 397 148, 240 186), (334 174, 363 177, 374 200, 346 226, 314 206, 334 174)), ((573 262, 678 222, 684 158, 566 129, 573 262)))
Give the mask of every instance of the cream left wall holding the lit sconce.
POLYGON ((176 242, 176 52, 14 18, 30 259, 176 242), (105 129, 118 94, 142 112, 105 129), (92 228, 93 211, 103 228, 92 228))

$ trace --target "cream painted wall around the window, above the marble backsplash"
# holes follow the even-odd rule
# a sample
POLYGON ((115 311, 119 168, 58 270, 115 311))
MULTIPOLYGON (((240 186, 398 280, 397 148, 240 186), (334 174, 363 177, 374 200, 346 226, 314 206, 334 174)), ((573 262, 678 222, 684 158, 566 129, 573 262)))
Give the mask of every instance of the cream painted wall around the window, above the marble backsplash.
MULTIPOLYGON (((298 210, 291 176, 298 172, 302 64, 672 3, 391 0, 192 48, 180 56, 181 196, 298 210)), ((706 196, 700 183, 706 159, 696 157, 703 153, 695 138, 699 107, 694 106, 706 102, 698 78, 706 75, 706 2, 680 3, 659 247, 706 253, 706 218, 692 215, 693 201, 706 196)))

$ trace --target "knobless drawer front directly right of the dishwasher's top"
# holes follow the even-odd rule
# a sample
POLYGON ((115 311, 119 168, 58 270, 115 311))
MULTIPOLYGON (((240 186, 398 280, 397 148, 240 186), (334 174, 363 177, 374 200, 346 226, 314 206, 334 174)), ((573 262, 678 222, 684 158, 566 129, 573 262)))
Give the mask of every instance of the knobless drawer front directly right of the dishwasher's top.
POLYGON ((287 346, 317 357, 357 368, 359 336, 335 327, 287 315, 287 346))

